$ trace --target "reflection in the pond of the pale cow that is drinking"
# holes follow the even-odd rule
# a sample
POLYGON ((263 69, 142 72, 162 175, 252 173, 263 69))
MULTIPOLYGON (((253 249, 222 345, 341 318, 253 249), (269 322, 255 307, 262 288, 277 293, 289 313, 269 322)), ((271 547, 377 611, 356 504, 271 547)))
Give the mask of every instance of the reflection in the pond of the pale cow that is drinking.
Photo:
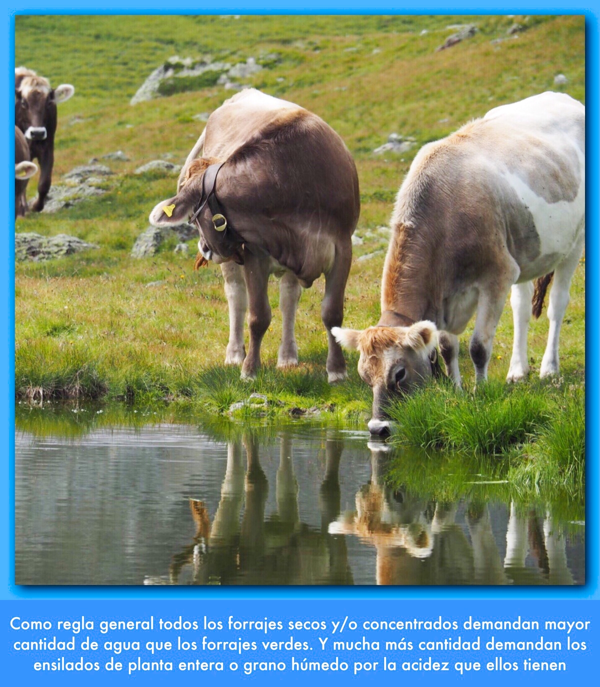
POLYGON ((329 526, 375 546, 378 585, 572 585, 566 539, 550 513, 510 506, 504 560, 489 508, 467 505, 467 532, 457 523, 458 504, 425 501, 386 485, 386 444, 369 444, 372 478, 356 495, 356 511, 329 526), (469 541, 470 540, 470 541, 469 541), (528 561, 529 556, 529 561, 528 561), (529 564, 528 564, 529 563, 529 564))

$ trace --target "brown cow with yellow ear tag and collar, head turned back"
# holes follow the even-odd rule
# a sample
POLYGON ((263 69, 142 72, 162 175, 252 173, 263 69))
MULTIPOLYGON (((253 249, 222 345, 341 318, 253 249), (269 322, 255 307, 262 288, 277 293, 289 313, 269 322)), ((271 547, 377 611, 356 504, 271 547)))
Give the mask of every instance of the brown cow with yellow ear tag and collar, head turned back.
POLYGON ((243 379, 256 376, 260 343, 271 322, 269 274, 282 273, 278 368, 297 365, 294 321, 301 286, 309 288, 324 274, 326 369, 330 382, 344 379, 344 354, 331 328, 342 324, 359 187, 340 136, 296 104, 255 89, 236 93, 210 115, 181 170, 177 195, 158 203, 150 221, 169 227, 191 215, 200 233, 197 263, 220 263, 225 278, 230 318, 225 364, 242 363, 243 379))

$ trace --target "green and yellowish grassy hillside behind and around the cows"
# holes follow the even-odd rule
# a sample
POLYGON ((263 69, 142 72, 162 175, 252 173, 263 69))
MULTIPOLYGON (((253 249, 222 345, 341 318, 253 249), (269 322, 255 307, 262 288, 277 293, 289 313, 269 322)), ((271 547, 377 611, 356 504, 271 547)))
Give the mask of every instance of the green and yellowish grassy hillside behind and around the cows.
MULTIPOLYGON (((492 106, 548 89, 585 102, 584 19, 577 16, 17 16, 16 65, 75 85, 59 106, 54 179, 92 157, 123 150, 129 162, 108 161, 118 176, 109 192, 56 214, 29 214, 16 232, 79 236, 100 249, 52 262, 16 264, 16 394, 78 396, 131 403, 167 398, 223 411, 252 391, 302 409, 335 408, 340 417, 368 412, 370 392, 351 377, 326 384, 326 337, 320 322, 323 281, 305 291, 296 332, 300 368, 274 369, 280 337, 278 284, 271 284, 274 319, 263 342, 265 369, 250 384, 222 367, 227 343, 223 279, 211 265, 192 271, 190 256, 173 254, 175 239, 146 260, 130 257, 155 203, 175 191, 175 177, 131 174, 170 154, 181 164, 201 133, 193 117, 214 110, 232 91, 206 87, 131 106, 145 78, 179 55, 236 63, 277 56, 269 69, 243 79, 298 102, 331 124, 353 153, 362 212, 346 291, 351 326, 379 318, 379 281, 392 201, 416 151, 492 106), (508 35, 513 23, 524 30, 508 35), (436 52, 452 25, 478 32, 436 52), (501 38, 501 41, 498 39, 501 38), (555 87, 556 74, 568 84, 555 87), (390 133, 414 137, 403 155, 373 155, 390 133), (146 288, 148 282, 163 282, 146 288)), ((103 161, 104 162, 104 161, 103 161)), ((36 179, 30 182, 32 197, 36 179)), ((566 385, 584 382, 584 267, 577 270, 562 333, 566 385)), ((547 320, 533 323, 533 374, 539 370, 547 320)), ((469 332, 465 333, 466 341, 469 332)), ((512 340, 509 308, 496 337, 492 379, 507 373, 512 340)), ((472 365, 462 346, 465 385, 472 365)), ((562 381, 559 382, 559 386, 562 381)), ((533 387, 532 387, 533 393, 533 387)), ((274 405, 273 408, 279 406, 274 405)))

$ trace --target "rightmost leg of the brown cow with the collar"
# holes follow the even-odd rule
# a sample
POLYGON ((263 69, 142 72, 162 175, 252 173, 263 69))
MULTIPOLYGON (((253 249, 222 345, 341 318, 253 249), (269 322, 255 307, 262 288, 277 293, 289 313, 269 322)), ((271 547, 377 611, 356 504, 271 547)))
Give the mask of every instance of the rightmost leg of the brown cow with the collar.
POLYGON ((329 383, 346 379, 346 360, 342 347, 331 334, 332 327, 341 327, 344 319, 344 291, 352 262, 352 244, 335 247, 333 267, 325 275, 325 295, 321 303, 321 319, 327 330, 329 352, 327 354, 327 380, 329 383))

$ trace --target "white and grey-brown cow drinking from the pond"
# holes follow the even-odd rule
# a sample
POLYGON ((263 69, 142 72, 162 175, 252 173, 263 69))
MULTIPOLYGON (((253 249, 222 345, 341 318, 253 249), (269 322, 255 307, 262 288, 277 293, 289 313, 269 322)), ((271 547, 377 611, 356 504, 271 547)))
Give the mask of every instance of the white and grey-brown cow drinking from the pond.
POLYGON ((585 182, 585 108, 564 93, 496 107, 419 150, 392 214, 379 323, 332 330, 360 351, 359 374, 373 388, 371 433, 390 431, 391 398, 436 372, 437 344, 460 387, 457 336, 475 312, 469 352, 476 384, 487 379, 509 291, 507 381, 523 379, 529 319, 539 317, 552 275, 540 377, 558 373, 559 330, 585 240, 585 182))

